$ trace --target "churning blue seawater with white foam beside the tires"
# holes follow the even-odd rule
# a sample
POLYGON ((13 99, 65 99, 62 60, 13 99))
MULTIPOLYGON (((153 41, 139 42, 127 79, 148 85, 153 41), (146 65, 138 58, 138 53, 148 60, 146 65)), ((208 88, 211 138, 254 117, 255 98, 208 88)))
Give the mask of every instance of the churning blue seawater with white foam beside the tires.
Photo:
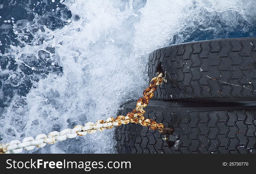
MULTIPOLYGON (((147 86, 151 51, 255 36, 255 12, 241 0, 4 1, 0 142, 117 116, 147 86)), ((116 153, 114 130, 33 153, 116 153)))

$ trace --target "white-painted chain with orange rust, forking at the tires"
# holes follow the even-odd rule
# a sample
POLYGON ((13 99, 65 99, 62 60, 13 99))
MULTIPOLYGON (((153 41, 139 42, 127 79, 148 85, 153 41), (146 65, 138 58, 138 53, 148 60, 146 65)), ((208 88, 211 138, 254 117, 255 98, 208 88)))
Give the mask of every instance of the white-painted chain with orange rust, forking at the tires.
POLYGON ((114 126, 120 126, 122 124, 128 123, 139 123, 143 126, 149 127, 152 130, 159 130, 159 132, 170 132, 172 128, 164 128, 162 123, 156 123, 152 119, 145 119, 143 114, 145 114, 144 107, 147 106, 148 100, 154 96, 154 91, 157 86, 162 83, 163 74, 160 73, 157 77, 152 78, 150 81, 150 86, 143 92, 143 97, 139 98, 136 104, 136 108, 129 112, 126 116, 119 115, 114 119, 110 117, 104 120, 98 120, 96 123, 89 122, 85 126, 76 125, 73 129, 64 129, 61 132, 53 131, 48 134, 39 134, 35 137, 26 137, 20 142, 19 140, 13 140, 9 143, 0 144, 0 153, 21 153, 23 149, 33 150, 36 147, 42 148, 46 144, 54 144, 57 141, 64 141, 67 138, 75 138, 77 136, 84 136, 87 133, 93 134, 95 132, 101 132, 105 129, 112 129, 114 126))

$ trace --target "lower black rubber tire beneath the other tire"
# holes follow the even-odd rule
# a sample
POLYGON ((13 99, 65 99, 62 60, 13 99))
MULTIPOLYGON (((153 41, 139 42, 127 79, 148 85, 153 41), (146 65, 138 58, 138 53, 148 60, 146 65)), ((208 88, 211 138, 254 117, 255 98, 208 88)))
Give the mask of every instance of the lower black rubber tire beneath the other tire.
MULTIPOLYGON (((120 114, 135 105, 126 104, 120 114)), ((158 130, 121 125, 116 129, 118 153, 256 153, 255 103, 210 105, 150 101, 145 116, 173 127, 173 135, 166 142, 158 130)))

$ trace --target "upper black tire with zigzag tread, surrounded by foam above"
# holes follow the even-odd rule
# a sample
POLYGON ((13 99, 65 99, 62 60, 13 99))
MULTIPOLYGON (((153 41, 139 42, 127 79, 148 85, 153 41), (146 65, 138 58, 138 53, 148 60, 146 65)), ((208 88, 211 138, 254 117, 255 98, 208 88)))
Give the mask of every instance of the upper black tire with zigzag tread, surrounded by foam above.
POLYGON ((207 40, 150 54, 149 76, 165 72, 154 100, 256 100, 256 38, 207 40))

